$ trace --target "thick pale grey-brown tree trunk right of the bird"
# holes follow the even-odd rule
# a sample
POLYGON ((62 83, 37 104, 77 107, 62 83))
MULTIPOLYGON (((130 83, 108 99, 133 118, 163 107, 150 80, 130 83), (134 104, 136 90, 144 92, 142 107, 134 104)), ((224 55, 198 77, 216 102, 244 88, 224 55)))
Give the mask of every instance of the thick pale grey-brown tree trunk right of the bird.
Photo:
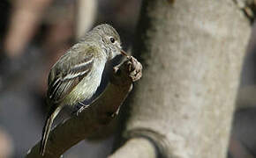
POLYGON ((226 157, 250 30, 232 0, 144 0, 134 49, 143 78, 124 129, 130 140, 112 156, 132 157, 141 137, 162 157, 226 157))

